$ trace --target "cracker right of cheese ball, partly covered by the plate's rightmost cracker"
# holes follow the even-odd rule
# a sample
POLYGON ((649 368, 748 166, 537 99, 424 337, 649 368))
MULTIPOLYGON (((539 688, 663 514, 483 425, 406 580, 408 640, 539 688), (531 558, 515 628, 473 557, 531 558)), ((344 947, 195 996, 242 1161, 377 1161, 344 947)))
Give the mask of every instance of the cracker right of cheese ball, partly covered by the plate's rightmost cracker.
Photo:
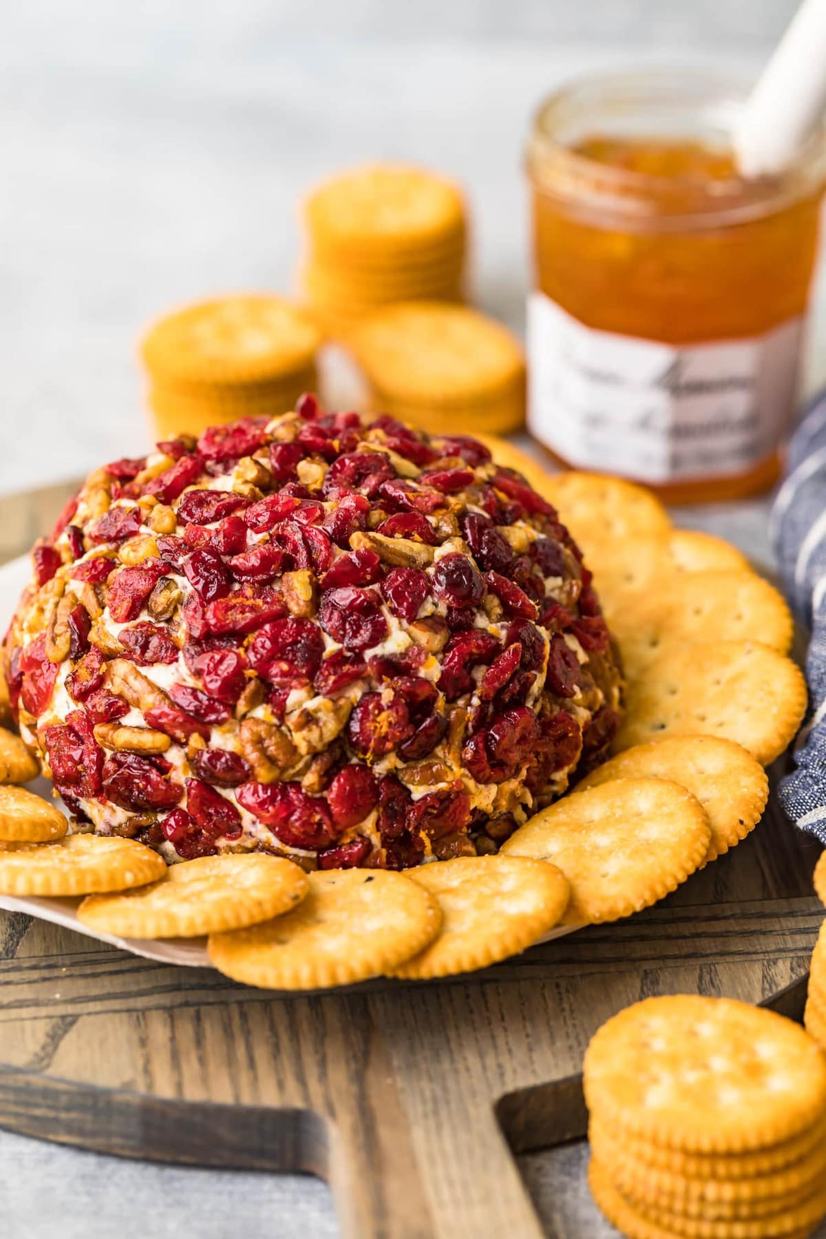
POLYGON ((760 641, 786 654, 794 621, 785 598, 755 572, 674 572, 654 595, 625 598, 611 615, 629 679, 679 642, 760 641))

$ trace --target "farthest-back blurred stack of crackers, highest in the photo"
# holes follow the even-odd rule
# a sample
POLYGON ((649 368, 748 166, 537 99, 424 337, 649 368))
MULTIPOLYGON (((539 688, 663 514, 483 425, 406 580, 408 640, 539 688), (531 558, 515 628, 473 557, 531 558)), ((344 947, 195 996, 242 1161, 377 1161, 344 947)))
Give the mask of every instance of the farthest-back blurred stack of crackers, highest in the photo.
POLYGON ((302 295, 332 335, 394 301, 462 297, 467 217, 461 191, 424 169, 372 165, 305 203, 302 295))

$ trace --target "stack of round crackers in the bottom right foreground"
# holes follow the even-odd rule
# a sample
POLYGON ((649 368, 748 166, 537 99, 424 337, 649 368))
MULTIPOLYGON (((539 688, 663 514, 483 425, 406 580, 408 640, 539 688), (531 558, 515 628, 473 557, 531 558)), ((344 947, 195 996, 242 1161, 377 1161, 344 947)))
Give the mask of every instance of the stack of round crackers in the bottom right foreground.
POLYGON ((809 1235, 826 1215, 826 1059, 731 999, 646 999, 598 1030, 588 1178, 630 1239, 809 1235))

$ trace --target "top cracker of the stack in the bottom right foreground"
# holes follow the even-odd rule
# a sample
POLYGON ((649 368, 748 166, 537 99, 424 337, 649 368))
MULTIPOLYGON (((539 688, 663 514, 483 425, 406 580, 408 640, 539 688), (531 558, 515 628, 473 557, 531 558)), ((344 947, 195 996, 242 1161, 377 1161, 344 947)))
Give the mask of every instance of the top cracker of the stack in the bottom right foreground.
POLYGON ((826 1059, 791 1020, 734 999, 644 999, 594 1033, 586 1101, 617 1132, 689 1152, 741 1152, 806 1131, 826 1059))

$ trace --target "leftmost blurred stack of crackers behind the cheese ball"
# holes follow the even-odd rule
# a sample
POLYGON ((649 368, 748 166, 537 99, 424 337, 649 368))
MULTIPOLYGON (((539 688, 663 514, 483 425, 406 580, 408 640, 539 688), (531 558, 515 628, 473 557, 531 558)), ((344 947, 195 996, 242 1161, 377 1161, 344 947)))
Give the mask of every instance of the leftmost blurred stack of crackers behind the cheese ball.
POLYGON ((157 437, 295 408, 317 385, 318 327, 281 297, 228 296, 161 318, 144 339, 157 437))

